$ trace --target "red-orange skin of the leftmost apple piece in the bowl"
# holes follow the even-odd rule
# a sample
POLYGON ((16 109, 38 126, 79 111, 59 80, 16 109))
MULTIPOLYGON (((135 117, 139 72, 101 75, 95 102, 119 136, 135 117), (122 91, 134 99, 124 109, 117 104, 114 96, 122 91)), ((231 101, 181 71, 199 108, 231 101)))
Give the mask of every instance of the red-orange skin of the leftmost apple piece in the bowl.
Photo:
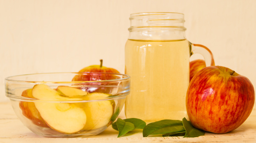
MULTIPOLYGON (((23 97, 33 98, 32 96, 32 88, 24 90, 22 92, 23 97)), ((49 126, 45 123, 45 121, 40 116, 38 110, 35 107, 35 104, 33 102, 24 102, 21 101, 19 103, 20 109, 22 110, 22 114, 30 119, 35 125, 40 127, 48 127, 49 126)))

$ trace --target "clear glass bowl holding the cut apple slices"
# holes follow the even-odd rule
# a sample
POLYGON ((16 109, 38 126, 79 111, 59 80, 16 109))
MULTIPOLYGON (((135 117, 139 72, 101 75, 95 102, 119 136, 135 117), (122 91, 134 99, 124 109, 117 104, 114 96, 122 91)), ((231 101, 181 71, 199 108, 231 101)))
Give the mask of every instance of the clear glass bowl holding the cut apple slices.
POLYGON ((83 137, 103 132, 117 118, 130 93, 130 77, 103 72, 36 73, 7 77, 5 87, 14 112, 33 133, 83 137))

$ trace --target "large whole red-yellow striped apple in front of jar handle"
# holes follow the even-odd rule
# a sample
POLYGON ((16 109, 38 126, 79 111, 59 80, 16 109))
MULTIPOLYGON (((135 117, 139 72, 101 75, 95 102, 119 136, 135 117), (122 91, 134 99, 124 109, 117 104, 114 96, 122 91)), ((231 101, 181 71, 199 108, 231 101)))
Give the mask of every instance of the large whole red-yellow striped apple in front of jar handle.
POLYGON ((206 67, 192 78, 186 109, 198 129, 222 134, 238 128, 250 115, 255 100, 245 76, 221 66, 206 67))

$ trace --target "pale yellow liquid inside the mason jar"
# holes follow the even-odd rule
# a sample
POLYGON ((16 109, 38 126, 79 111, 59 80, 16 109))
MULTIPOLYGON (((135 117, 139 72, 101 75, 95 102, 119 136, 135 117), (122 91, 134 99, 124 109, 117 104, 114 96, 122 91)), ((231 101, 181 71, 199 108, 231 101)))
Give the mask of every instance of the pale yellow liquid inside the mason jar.
POLYGON ((147 122, 187 117, 189 55, 185 39, 128 40, 125 73, 131 76, 131 93, 125 101, 126 117, 147 122))

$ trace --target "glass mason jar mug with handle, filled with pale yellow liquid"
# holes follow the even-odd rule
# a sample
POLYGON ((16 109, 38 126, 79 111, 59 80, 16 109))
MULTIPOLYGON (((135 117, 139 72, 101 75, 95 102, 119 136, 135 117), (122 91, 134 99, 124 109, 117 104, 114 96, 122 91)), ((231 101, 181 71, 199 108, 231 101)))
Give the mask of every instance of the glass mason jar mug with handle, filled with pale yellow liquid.
POLYGON ((187 117, 185 97, 189 85, 189 58, 204 56, 214 65, 208 48, 185 37, 184 15, 171 12, 130 15, 125 45, 125 74, 131 76, 126 97, 126 118, 147 122, 187 117))

